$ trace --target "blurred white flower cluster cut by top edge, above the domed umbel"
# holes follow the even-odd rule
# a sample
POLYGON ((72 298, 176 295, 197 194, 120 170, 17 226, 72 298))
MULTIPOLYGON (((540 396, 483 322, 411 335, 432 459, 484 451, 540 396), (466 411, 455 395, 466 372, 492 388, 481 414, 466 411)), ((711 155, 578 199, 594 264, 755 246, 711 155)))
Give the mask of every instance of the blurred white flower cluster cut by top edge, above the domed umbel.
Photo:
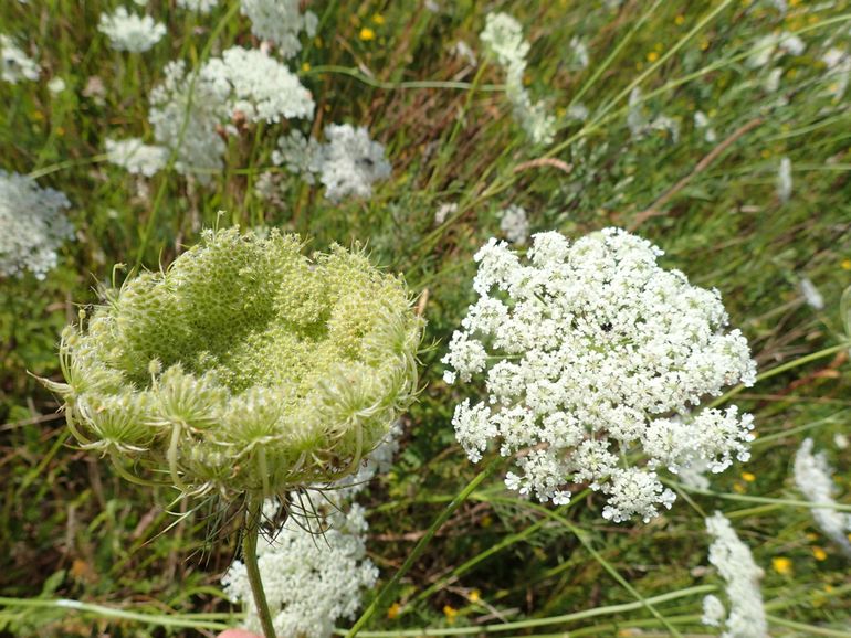
POLYGON ((302 50, 298 32, 316 35, 318 18, 313 11, 298 12, 298 0, 240 0, 240 11, 251 20, 251 32, 277 45, 283 57, 302 50))

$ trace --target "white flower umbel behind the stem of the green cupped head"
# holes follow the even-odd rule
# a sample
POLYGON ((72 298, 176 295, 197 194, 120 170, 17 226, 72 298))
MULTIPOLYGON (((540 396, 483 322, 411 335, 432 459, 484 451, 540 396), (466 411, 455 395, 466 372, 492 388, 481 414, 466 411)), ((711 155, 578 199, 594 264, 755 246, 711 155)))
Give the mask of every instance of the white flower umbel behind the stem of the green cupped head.
MULTIPOLYGON (((315 512, 287 521, 258 543, 258 565, 277 636, 329 638, 337 620, 354 617, 361 593, 378 578, 366 557, 364 509, 353 504, 344 512, 321 495, 309 498, 315 512)), ((261 632, 245 565, 233 563, 222 584, 231 600, 242 603, 248 629, 261 632)))

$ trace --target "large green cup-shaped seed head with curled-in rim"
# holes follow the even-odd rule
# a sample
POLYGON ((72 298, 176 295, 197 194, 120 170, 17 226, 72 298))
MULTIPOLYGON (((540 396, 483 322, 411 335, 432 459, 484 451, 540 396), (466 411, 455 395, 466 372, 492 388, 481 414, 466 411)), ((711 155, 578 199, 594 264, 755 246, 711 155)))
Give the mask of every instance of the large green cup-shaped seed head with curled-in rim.
POLYGON ((133 480, 267 497, 356 471, 417 389, 422 319, 359 251, 206 231, 66 328, 69 426, 133 480))

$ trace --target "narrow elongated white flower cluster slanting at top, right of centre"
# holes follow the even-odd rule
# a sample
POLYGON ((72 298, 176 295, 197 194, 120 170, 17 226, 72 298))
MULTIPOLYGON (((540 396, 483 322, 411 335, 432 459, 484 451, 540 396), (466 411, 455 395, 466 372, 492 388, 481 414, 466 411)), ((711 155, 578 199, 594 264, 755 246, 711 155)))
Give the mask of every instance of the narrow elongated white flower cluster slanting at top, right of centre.
POLYGON ((544 103, 533 103, 523 85, 529 52, 523 28, 507 13, 488 13, 480 38, 505 68, 505 93, 514 108, 514 117, 533 142, 550 143, 556 134, 556 118, 547 113, 544 103))

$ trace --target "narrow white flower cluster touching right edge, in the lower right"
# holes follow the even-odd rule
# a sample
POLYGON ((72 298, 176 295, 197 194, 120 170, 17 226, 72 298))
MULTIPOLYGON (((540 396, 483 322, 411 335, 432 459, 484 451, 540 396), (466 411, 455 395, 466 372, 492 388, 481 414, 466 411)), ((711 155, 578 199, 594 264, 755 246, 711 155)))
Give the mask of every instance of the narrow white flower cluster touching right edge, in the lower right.
POLYGON ((851 514, 833 509, 837 491, 832 479, 833 470, 828 465, 824 453, 812 453, 812 439, 808 438, 795 455, 795 483, 807 500, 827 507, 812 508, 812 518, 824 535, 851 556, 851 542, 845 535, 851 532, 851 514))

